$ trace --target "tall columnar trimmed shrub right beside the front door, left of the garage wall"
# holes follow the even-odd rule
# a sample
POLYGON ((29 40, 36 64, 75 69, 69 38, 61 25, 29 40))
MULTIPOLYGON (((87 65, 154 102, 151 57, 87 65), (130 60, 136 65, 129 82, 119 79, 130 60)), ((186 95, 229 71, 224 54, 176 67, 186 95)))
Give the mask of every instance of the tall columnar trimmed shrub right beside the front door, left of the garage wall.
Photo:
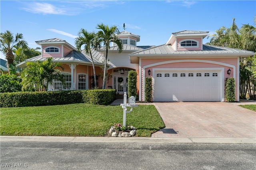
POLYGON ((137 72, 131 70, 128 72, 128 97, 137 96, 137 72))

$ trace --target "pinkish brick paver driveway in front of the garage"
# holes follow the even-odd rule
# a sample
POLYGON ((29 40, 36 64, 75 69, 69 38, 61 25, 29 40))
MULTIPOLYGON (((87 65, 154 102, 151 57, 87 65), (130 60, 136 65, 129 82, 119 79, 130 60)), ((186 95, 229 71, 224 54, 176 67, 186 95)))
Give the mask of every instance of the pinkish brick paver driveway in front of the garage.
POLYGON ((166 127, 152 137, 256 138, 256 112, 225 102, 154 103, 166 127))

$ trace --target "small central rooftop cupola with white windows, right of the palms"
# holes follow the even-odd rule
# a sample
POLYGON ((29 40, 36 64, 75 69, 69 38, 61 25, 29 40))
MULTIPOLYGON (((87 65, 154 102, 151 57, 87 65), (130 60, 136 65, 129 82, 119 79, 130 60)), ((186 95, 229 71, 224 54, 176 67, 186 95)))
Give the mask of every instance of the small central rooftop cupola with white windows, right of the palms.
MULTIPOLYGON (((140 36, 133 34, 133 33, 129 33, 127 31, 122 31, 119 33, 118 35, 119 39, 122 41, 122 44, 124 45, 130 45, 130 46, 137 46, 137 42, 140 41, 140 36)), ((116 45, 113 43, 113 46, 116 45)))

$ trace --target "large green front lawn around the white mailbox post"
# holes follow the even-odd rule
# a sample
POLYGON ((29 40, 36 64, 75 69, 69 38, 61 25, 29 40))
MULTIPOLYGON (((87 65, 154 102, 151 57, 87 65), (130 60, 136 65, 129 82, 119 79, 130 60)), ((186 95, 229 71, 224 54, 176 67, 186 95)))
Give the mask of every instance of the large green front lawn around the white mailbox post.
MULTIPOLYGON (((1 108, 0 135, 106 136, 114 123, 123 123, 121 106, 68 104, 1 108)), ((137 137, 150 137, 164 128, 153 105, 139 105, 126 114, 126 126, 137 128, 137 137)))

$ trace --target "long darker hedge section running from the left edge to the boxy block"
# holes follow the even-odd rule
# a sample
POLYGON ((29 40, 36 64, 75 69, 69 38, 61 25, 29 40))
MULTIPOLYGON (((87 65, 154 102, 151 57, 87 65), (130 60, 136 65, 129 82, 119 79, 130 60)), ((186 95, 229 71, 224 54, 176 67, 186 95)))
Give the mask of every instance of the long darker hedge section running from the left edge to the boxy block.
POLYGON ((12 92, 0 94, 0 107, 50 106, 82 103, 84 90, 12 92))

